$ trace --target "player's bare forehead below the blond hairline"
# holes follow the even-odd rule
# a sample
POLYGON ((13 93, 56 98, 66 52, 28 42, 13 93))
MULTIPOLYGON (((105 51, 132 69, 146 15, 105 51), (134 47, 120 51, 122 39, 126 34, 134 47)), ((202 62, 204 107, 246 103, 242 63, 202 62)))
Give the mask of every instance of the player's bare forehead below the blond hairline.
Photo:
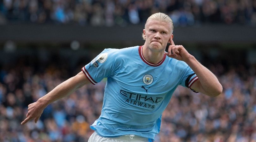
POLYGON ((145 25, 146 29, 159 29, 159 30, 165 30, 171 32, 171 25, 165 21, 157 21, 157 20, 150 20, 145 25))

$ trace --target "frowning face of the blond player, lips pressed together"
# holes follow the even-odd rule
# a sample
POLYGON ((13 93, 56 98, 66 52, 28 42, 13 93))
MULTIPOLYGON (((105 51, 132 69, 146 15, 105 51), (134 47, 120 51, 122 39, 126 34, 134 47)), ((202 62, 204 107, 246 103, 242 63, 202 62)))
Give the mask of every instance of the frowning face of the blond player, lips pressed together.
POLYGON ((163 51, 170 38, 172 38, 171 27, 167 22, 151 20, 143 29, 146 38, 146 46, 150 50, 163 51))

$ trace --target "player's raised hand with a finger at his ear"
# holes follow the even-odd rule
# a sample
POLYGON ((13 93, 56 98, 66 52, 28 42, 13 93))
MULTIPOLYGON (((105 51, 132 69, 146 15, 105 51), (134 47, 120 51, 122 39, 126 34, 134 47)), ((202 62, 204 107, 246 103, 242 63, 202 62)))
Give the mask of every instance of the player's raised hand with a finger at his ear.
POLYGON ((165 52, 168 57, 184 61, 189 59, 191 54, 182 46, 182 45, 175 45, 173 39, 171 38, 171 45, 168 47, 168 52, 165 52))

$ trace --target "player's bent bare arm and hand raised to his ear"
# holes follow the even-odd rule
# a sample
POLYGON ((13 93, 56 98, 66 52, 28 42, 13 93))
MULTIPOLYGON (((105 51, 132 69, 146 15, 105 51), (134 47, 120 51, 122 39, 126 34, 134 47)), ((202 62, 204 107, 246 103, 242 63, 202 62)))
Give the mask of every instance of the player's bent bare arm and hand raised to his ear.
POLYGON ((216 76, 198 62, 194 56, 189 54, 182 45, 175 45, 172 38, 170 38, 170 42, 171 45, 168 48, 168 53, 166 52, 165 54, 169 57, 186 62, 199 79, 193 83, 191 89, 211 97, 221 94, 222 85, 216 76))

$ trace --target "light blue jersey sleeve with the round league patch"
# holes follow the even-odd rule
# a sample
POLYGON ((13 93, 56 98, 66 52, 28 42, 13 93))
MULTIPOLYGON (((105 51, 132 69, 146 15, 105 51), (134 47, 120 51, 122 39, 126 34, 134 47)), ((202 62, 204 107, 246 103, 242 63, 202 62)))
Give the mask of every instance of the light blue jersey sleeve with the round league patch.
POLYGON ((88 78, 88 80, 95 85, 103 78, 109 77, 113 73, 115 65, 115 57, 113 50, 117 49, 105 49, 96 56, 91 62, 82 68, 82 72, 88 78))

